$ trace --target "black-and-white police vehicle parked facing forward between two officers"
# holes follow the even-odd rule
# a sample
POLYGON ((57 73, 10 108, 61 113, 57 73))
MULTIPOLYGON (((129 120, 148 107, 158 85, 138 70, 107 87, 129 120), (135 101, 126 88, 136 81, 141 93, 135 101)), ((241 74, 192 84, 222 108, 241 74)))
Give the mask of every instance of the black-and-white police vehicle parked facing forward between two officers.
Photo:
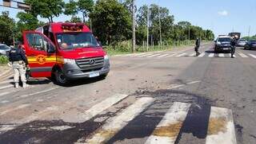
POLYGON ((231 37, 230 36, 219 36, 215 41, 214 52, 231 52, 231 37))

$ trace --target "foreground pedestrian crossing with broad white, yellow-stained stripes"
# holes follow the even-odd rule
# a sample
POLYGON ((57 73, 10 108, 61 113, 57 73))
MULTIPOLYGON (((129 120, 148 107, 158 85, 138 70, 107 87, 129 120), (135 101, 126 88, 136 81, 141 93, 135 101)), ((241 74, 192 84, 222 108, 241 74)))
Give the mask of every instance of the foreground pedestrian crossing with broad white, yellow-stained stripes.
MULTIPOLYGON (((82 114, 74 114, 80 116, 77 122, 72 123, 86 123, 86 121, 90 121, 97 117, 97 115, 101 115, 102 111, 107 111, 108 108, 114 107, 117 103, 126 103, 126 99, 132 95, 122 95, 115 94, 107 99, 102 100, 102 102, 95 103, 94 106, 90 107, 87 111, 84 111, 82 114)), ((128 126, 129 123, 137 119, 139 115, 144 115, 146 111, 150 110, 150 107, 154 105, 154 103, 158 101, 157 98, 152 98, 150 96, 138 97, 134 99, 134 102, 130 104, 128 107, 119 107, 120 111, 116 113, 116 115, 111 115, 110 118, 106 121, 106 123, 102 123, 97 130, 95 130, 92 134, 84 135, 79 137, 77 142, 75 143, 107 143, 111 138, 114 138, 119 131, 128 126)), ((175 143, 178 134, 180 134, 182 130, 182 126, 184 126, 184 122, 187 121, 187 115, 189 115, 189 111, 194 103, 182 103, 182 102, 174 102, 170 104, 168 110, 162 116, 162 119, 155 126, 154 130, 150 133, 149 136, 146 136, 145 142, 146 144, 169 144, 175 143)), ((14 107, 12 110, 4 111, 1 113, 1 116, 6 115, 8 112, 12 111, 22 111, 23 108, 29 107, 30 104, 23 104, 18 107, 14 107)), ((199 106, 198 106, 199 107, 199 106)), ((26 118, 18 120, 15 122, 15 125, 0 124, 0 138, 1 134, 6 133, 9 130, 15 130, 16 127, 21 126, 23 123, 30 123, 31 121, 42 119, 46 115, 52 114, 52 111, 57 112, 61 110, 61 106, 52 106, 47 107, 43 111, 38 111, 38 113, 34 113, 32 115, 26 115, 26 118)), ((158 111, 155 111, 156 113, 158 111)), ((70 115, 70 117, 75 118, 74 115, 70 115)), ((191 115, 191 114, 190 114, 191 115)), ((150 117, 150 115, 147 115, 150 117)), ((222 107, 210 107, 210 116, 208 122, 208 133, 206 136, 206 144, 236 144, 235 137, 235 129, 234 129, 234 120, 232 111, 230 109, 222 108, 222 107)), ((10 122, 14 123, 14 122, 10 122)), ((70 123, 70 122, 69 122, 70 123)), ((64 126, 65 127, 65 126, 64 126)), ((74 126, 70 126, 73 128, 74 126)), ((146 128, 146 127, 145 127, 146 128)), ((67 129, 68 126, 67 126, 67 129)), ((38 128, 40 130, 40 127, 38 128)), ((66 129, 65 129, 66 130, 66 129)), ((133 129, 129 129, 126 131, 130 134, 134 133, 133 129)), ((126 137, 126 136, 124 136, 126 137)))

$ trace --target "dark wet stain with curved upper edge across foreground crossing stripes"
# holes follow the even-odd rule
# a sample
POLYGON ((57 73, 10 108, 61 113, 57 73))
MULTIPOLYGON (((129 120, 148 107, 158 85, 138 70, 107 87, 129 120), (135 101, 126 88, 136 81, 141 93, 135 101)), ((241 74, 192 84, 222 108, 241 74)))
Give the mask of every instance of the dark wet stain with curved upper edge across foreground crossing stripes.
POLYGON ((202 95, 193 94, 188 91, 175 90, 142 91, 141 89, 134 95, 137 95, 137 97, 151 96, 156 101, 146 111, 142 112, 141 115, 138 115, 128 123, 107 143, 122 142, 124 139, 146 138, 151 134, 169 137, 178 135, 178 141, 184 133, 192 133, 195 138, 206 138, 210 106, 214 104, 213 100, 205 99, 202 95), (156 128, 174 102, 193 103, 185 121, 156 128), (152 113, 148 111, 152 111, 152 113))

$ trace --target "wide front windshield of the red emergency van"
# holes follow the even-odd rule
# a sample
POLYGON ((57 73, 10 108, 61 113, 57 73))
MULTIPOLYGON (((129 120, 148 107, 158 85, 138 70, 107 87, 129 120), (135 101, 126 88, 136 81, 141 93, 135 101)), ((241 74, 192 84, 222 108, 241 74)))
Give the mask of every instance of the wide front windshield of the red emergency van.
POLYGON ((59 47, 64 50, 100 46, 92 33, 58 33, 57 41, 59 47))

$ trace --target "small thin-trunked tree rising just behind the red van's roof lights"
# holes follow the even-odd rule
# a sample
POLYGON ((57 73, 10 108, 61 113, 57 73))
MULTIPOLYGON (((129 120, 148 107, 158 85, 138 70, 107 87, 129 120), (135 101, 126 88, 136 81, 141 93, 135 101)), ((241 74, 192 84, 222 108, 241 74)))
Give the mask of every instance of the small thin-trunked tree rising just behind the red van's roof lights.
POLYGON ((86 17, 94 10, 93 0, 78 0, 78 10, 82 12, 82 21, 86 22, 86 17))

